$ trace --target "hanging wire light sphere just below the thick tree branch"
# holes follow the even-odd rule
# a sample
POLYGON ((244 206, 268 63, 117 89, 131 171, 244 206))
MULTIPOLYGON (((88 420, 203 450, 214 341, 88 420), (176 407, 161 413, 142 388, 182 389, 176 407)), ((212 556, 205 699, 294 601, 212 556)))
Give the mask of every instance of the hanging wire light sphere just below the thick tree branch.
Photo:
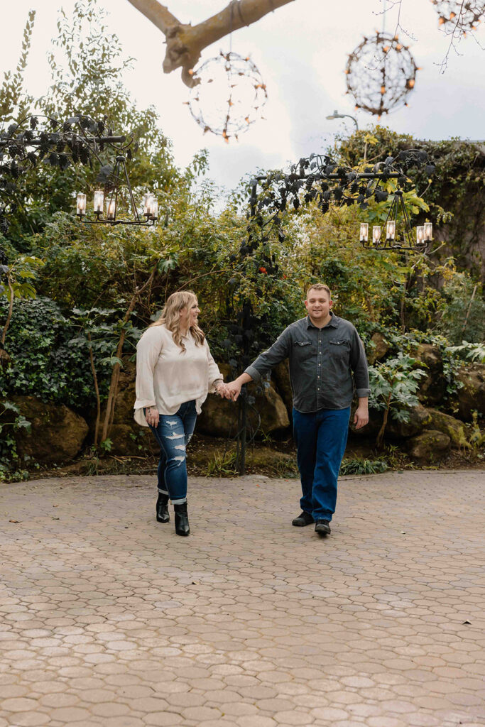
POLYGON ((193 71, 193 81, 188 108, 204 134, 211 132, 228 142, 262 118, 268 94, 249 58, 221 51, 193 71))

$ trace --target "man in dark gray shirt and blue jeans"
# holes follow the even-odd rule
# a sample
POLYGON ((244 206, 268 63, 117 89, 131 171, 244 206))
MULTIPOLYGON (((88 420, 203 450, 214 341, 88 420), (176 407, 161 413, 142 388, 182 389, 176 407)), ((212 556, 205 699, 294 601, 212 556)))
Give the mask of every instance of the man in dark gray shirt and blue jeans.
POLYGON ((251 366, 228 384, 234 401, 241 386, 258 381, 273 366, 289 358, 293 391, 293 435, 302 483, 302 513, 295 526, 315 523, 315 531, 329 534, 337 502, 337 477, 345 451, 350 403, 355 382, 358 407, 356 429, 369 422, 369 372, 364 346, 354 326, 332 311, 330 289, 310 286, 306 318, 288 326, 251 366))

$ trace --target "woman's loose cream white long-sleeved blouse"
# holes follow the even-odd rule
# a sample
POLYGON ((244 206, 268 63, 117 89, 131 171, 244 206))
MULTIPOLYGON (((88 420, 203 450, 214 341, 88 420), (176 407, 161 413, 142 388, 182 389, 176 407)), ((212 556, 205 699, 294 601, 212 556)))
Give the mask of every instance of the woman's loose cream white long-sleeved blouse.
POLYGON ((197 346, 189 332, 183 343, 185 351, 175 345, 164 324, 148 328, 137 343, 135 421, 142 427, 148 427, 145 406, 156 406, 159 414, 170 415, 185 401, 195 399, 200 414, 207 394, 223 381, 207 340, 197 346))

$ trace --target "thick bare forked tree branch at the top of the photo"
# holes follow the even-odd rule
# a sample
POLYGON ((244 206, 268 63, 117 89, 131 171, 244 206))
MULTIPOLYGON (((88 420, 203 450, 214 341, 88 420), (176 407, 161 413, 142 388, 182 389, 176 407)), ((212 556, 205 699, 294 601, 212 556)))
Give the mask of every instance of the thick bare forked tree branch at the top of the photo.
POLYGON ((231 0, 228 6, 216 15, 192 26, 190 23, 180 23, 180 20, 177 20, 175 15, 172 15, 158 0, 128 1, 164 33, 167 41, 164 72, 171 73, 176 68, 182 68, 182 79, 188 87, 194 85, 191 71, 204 48, 232 31, 256 23, 268 15, 268 12, 294 2, 294 0, 231 0))

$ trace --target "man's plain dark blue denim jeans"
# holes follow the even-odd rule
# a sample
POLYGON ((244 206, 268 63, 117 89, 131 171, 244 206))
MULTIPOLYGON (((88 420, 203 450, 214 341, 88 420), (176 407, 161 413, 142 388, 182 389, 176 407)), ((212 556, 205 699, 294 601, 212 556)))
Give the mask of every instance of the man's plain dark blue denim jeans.
POLYGON ((337 477, 347 444, 350 406, 302 414, 293 409, 293 437, 302 483, 300 505, 313 520, 332 520, 337 477))

